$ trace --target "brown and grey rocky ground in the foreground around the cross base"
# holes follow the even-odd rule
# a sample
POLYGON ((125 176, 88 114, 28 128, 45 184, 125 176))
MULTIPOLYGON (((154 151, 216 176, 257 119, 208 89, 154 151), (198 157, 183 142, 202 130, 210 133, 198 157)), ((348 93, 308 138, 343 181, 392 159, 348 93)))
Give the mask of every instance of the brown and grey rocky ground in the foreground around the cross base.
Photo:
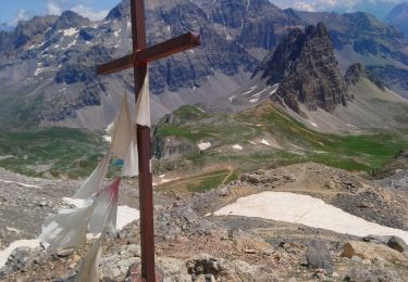
MULTIPOLYGON (((61 198, 79 184, 0 172, 1 248, 37 236, 44 218, 63 206, 61 198)), ((408 175, 404 169, 397 172, 408 175)), ((213 215, 243 196, 292 192, 408 231, 408 187, 390 185, 392 177, 372 180, 306 163, 245 174, 202 193, 157 189, 157 265, 165 281, 408 281, 407 245, 398 238, 358 238, 283 221, 213 215)), ((137 208, 133 182, 124 181, 120 202, 137 208)), ((0 270, 0 279, 73 281, 85 252, 52 254, 41 247, 20 247, 0 270)), ((129 268, 139 262, 139 222, 135 221, 106 240, 100 280, 132 281, 129 268)))

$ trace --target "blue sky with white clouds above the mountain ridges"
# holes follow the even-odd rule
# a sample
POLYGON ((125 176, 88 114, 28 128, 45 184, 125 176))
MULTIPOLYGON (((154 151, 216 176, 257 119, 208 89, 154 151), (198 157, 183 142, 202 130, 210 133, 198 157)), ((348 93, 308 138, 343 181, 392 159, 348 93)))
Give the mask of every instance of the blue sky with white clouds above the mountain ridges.
MULTIPOLYGON (((149 0, 147 0, 149 1, 149 0)), ((302 11, 369 12, 384 17, 403 0, 270 0, 282 9, 302 11)), ((408 1, 408 0, 406 0, 408 1)), ((60 14, 71 10, 91 20, 101 20, 120 0, 7 0, 1 1, 0 23, 15 26, 34 15, 60 14)))

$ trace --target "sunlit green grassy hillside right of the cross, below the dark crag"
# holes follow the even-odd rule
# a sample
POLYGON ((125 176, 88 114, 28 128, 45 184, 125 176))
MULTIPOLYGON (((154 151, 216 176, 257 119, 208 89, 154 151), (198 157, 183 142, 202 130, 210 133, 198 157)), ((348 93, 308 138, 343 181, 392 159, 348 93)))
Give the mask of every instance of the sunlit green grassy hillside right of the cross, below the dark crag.
POLYGON ((234 163, 242 170, 247 170, 313 161, 348 170, 370 172, 400 149, 408 148, 407 140, 393 132, 345 137, 310 130, 272 102, 240 114, 214 116, 191 106, 184 106, 176 111, 174 116, 177 117, 174 125, 159 125, 158 132, 161 137, 174 136, 191 143, 210 140, 213 143, 205 154, 186 154, 185 158, 197 166, 234 163), (283 150, 252 149, 249 144, 256 138, 264 137, 273 137, 283 150), (244 144, 245 150, 225 150, 236 143, 244 144), (289 150, 294 146, 301 148, 301 154, 289 150))

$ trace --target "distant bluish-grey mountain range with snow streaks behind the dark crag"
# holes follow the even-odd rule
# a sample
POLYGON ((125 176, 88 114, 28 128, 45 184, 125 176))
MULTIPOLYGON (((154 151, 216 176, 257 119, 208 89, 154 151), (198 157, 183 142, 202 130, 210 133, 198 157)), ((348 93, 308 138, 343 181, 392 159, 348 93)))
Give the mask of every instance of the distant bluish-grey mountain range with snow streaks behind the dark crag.
MULTIPOLYGON (((120 97, 133 92, 133 76, 98 77, 95 66, 131 51, 128 14, 124 0, 100 22, 66 11, 0 30, 0 127, 103 129, 120 97)), ((151 65, 154 120, 245 88, 283 36, 319 22, 327 25, 342 74, 362 63, 387 87, 408 93, 408 44, 395 27, 366 13, 281 10, 268 0, 159 0, 147 4, 146 15, 149 44, 188 30, 202 37, 200 48, 151 65)))

